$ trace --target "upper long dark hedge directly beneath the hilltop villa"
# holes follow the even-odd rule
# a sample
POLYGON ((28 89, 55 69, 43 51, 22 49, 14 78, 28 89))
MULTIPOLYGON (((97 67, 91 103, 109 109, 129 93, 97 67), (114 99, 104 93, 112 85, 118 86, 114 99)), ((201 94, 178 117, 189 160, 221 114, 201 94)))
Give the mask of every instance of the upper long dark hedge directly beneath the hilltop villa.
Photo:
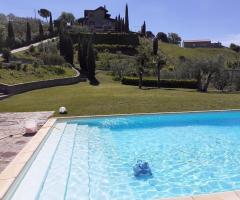
POLYGON ((84 38, 92 38, 94 44, 139 45, 138 35, 135 33, 70 33, 74 43, 84 38))

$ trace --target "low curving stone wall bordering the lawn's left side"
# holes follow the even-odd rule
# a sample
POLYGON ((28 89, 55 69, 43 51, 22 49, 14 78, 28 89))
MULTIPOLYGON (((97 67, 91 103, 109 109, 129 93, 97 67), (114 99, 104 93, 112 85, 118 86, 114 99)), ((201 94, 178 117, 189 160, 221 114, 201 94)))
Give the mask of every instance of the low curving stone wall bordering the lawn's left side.
POLYGON ((55 87, 55 86, 61 86, 61 85, 71 85, 71 84, 86 81, 85 78, 82 78, 80 76, 80 73, 77 70, 76 72, 77 72, 76 76, 69 77, 69 78, 36 81, 36 82, 21 83, 16 85, 0 84, 0 92, 14 95, 14 94, 19 94, 19 93, 23 93, 31 90, 36 90, 36 89, 55 87))

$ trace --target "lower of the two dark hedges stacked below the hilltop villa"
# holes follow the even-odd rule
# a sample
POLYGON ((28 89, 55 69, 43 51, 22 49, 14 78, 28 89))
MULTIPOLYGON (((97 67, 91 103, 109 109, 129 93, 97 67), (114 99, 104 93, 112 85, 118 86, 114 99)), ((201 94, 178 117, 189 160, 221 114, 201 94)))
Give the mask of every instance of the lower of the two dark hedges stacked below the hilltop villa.
POLYGON ((121 52, 129 56, 134 56, 137 54, 136 48, 131 45, 96 44, 94 45, 94 48, 97 49, 98 52, 104 52, 107 50, 109 53, 121 52))

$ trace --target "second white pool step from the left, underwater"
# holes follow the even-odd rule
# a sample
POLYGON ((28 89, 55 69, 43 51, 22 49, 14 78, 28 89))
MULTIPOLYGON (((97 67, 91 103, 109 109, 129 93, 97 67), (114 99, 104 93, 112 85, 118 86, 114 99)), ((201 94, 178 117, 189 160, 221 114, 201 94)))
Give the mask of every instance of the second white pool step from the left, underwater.
POLYGON ((66 126, 45 178, 39 199, 64 199, 65 188, 69 179, 76 129, 77 124, 68 124, 66 126))

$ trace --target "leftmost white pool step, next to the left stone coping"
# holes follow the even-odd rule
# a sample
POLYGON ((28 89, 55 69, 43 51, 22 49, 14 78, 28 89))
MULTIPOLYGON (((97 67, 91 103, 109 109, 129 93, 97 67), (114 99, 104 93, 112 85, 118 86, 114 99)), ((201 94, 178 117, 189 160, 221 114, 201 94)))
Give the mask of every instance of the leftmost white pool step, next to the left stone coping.
POLYGON ((61 139, 62 130, 66 127, 66 123, 58 123, 52 129, 48 139, 38 153, 38 156, 33 161, 27 174, 22 179, 21 184, 15 191, 12 200, 37 199, 39 188, 41 188, 44 181, 45 174, 47 173, 49 164, 51 163, 52 156, 56 147, 61 139))

